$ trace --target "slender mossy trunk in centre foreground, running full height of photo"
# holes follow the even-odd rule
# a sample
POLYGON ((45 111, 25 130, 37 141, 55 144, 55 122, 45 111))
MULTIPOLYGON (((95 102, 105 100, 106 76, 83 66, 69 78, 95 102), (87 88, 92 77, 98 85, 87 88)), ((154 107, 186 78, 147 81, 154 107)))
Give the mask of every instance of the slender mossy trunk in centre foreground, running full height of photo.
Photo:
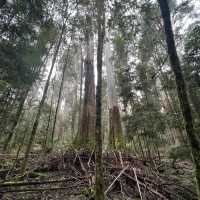
POLYGON ((102 132, 101 132, 101 94, 102 94, 102 54, 105 35, 104 0, 96 0, 98 23, 97 46, 97 91, 96 91, 96 130, 95 130, 95 200, 104 200, 102 132))

